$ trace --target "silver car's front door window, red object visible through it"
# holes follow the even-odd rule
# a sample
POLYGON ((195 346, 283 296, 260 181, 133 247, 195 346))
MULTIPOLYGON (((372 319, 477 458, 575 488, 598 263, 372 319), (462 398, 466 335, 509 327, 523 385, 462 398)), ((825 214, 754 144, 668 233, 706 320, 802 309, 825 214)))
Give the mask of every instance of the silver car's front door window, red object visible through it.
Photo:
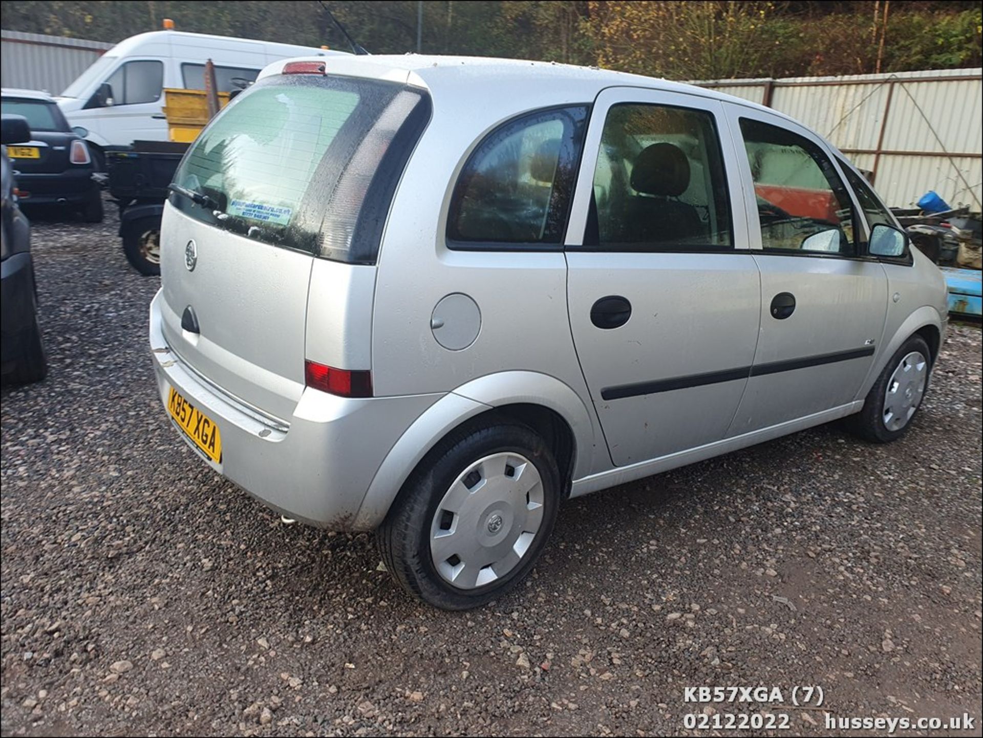
POLYGON ((766 251, 855 255, 853 206, 833 162, 779 126, 740 119, 766 251))

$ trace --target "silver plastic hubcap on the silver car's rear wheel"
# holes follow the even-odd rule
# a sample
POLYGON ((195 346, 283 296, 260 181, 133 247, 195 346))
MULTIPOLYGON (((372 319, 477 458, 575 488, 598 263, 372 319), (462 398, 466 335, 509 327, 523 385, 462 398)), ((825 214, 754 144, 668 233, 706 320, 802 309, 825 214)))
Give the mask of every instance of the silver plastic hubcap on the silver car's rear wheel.
POLYGON ((431 525, 440 577, 473 590, 523 560, 543 525, 543 479, 521 454, 497 453, 465 469, 444 493, 431 525))

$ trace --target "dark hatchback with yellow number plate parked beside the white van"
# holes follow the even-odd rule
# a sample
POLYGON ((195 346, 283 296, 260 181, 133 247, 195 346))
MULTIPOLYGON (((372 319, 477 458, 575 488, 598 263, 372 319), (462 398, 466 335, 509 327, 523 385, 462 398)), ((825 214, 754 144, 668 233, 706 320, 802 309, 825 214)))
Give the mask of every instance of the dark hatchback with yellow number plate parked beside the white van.
POLYGON ((89 223, 100 222, 102 196, 92 179, 95 167, 88 145, 55 101, 45 92, 5 88, 0 108, 5 114, 23 115, 30 127, 29 142, 7 149, 18 172, 21 204, 75 210, 89 223))

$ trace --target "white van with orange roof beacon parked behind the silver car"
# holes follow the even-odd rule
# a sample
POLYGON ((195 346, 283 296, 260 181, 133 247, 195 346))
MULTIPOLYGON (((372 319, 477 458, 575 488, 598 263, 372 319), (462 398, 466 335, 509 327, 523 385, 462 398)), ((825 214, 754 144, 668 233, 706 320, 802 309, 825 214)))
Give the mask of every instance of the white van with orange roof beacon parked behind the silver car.
POLYGON ((248 38, 156 30, 113 46, 55 99, 72 126, 87 129, 101 163, 106 146, 167 141, 165 87, 204 89, 204 63, 215 65, 219 91, 256 80, 270 62, 341 51, 248 38))

